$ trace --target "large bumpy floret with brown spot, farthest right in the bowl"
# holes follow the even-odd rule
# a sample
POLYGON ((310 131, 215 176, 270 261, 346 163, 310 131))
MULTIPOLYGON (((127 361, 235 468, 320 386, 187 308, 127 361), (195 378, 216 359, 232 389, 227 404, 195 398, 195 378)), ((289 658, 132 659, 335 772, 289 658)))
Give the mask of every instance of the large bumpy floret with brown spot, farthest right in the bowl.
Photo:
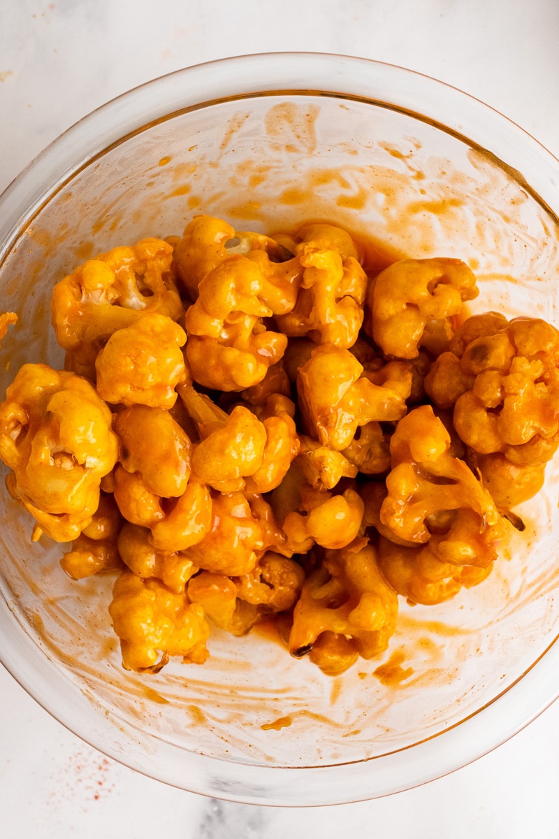
POLYGON ((427 393, 453 408, 499 507, 531 498, 559 445, 559 333, 544 320, 489 312, 469 318, 434 362, 427 393))

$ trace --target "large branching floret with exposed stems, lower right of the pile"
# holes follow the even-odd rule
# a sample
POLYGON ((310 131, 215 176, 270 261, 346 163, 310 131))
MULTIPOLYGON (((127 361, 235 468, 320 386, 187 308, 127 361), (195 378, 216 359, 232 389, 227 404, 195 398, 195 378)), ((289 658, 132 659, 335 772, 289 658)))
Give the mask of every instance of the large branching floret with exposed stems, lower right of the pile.
POLYGON ((407 414, 391 438, 379 512, 389 544, 381 542, 380 567, 412 602, 452 597, 464 566, 487 571, 505 535, 493 498, 449 448, 448 431, 428 405, 407 414))

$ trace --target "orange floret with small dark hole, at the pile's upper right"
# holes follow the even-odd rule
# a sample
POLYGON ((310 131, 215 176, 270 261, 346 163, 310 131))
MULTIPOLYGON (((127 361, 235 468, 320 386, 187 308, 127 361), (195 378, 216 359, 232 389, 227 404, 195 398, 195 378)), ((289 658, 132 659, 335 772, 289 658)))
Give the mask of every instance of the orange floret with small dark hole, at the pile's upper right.
POLYGON ((386 355, 415 358, 426 328, 434 331, 432 321, 458 315, 463 301, 477 295, 475 276, 460 259, 402 259, 370 284, 365 331, 386 355))

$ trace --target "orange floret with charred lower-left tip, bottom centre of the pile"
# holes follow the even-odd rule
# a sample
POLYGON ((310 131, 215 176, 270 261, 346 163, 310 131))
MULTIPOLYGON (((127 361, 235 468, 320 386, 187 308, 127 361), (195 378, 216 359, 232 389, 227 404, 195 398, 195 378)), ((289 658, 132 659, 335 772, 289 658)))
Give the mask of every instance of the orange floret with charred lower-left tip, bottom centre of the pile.
POLYGON ((371 659, 384 652, 396 629, 397 612, 396 591, 380 573, 372 545, 328 550, 323 565, 303 583, 289 650, 297 658, 308 653, 312 657, 314 645, 329 633, 328 655, 319 645, 315 663, 327 665, 329 673, 341 672, 353 663, 355 654, 371 659), (344 638, 341 644, 339 638, 344 638), (336 646, 338 667, 333 661, 338 657, 336 646))

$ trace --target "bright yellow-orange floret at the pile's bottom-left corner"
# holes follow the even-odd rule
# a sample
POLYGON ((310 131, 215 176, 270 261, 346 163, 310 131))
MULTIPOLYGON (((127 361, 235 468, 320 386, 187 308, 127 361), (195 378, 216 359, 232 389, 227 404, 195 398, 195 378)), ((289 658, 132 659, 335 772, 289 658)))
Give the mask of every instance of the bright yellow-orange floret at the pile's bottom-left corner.
POLYGON ((210 625, 204 609, 154 578, 141 580, 124 571, 115 582, 109 612, 126 670, 158 673, 174 655, 185 664, 204 664, 208 657, 210 625))

